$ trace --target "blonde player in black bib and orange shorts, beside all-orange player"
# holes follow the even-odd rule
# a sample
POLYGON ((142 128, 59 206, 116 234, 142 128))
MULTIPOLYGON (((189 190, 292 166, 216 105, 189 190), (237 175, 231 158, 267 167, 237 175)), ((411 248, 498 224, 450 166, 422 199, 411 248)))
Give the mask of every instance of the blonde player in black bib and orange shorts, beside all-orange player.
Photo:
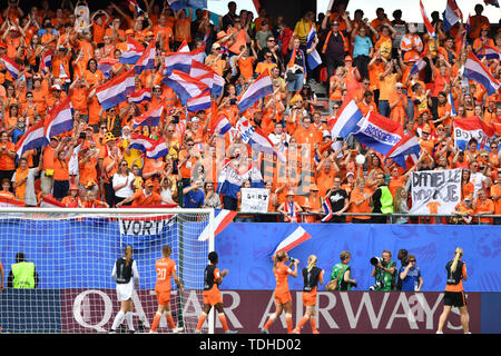
POLYGON ((294 329, 294 334, 299 334, 301 328, 307 323, 308 319, 313 334, 320 334, 316 329, 315 306, 318 283, 321 285, 324 284, 324 270, 316 267, 316 261, 317 257, 315 255, 311 255, 308 257, 307 267, 303 268, 303 305, 306 307, 306 312, 294 329))

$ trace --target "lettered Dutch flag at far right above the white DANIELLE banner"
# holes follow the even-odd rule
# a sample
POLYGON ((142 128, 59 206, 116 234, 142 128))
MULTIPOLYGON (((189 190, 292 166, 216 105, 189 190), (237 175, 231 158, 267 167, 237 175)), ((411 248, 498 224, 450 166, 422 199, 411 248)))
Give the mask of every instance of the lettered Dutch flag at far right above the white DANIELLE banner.
POLYGON ((468 148, 470 139, 479 142, 479 149, 490 150, 490 144, 494 139, 495 130, 483 122, 478 116, 470 118, 455 118, 453 123, 454 146, 461 150, 468 148))

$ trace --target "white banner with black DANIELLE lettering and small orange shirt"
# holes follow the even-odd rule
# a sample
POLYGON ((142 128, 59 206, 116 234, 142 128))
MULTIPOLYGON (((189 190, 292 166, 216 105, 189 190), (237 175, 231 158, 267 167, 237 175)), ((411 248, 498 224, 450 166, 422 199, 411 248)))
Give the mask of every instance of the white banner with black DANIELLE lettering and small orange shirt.
POLYGON ((461 201, 461 169, 414 171, 411 214, 451 214, 461 201))

